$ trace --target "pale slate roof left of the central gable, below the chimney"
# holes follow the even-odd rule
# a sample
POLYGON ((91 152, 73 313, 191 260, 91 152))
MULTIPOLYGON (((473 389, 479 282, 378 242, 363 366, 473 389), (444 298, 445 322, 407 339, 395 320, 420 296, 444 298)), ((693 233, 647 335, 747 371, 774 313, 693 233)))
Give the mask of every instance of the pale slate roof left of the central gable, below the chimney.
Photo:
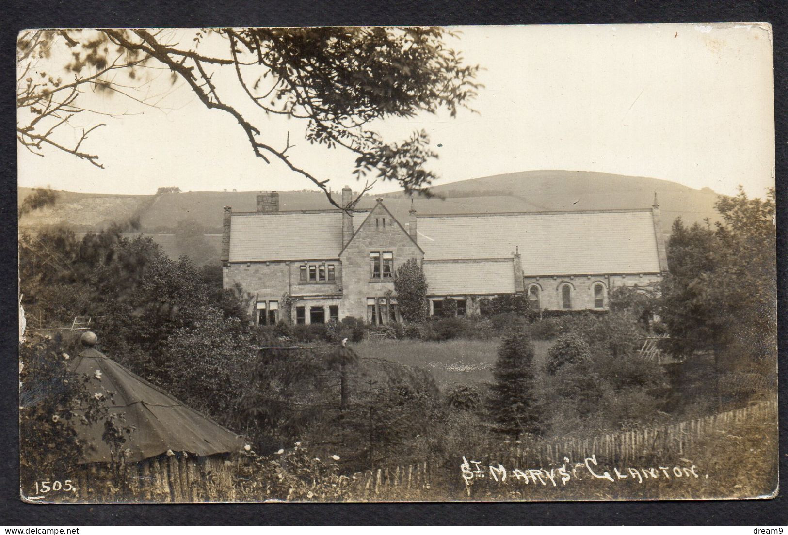
POLYGON ((342 212, 232 214, 230 262, 339 258, 342 212))

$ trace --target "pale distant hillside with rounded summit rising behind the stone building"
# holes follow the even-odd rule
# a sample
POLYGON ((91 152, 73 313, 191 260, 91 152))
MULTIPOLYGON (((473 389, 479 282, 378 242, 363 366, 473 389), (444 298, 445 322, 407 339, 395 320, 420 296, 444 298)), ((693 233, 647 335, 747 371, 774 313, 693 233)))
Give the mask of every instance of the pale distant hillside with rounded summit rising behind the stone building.
MULTIPOLYGON (((31 188, 19 188, 18 202, 31 188)), ((414 199, 418 214, 489 214, 541 210, 610 210, 648 208, 656 191, 662 209, 662 226, 670 234, 671 224, 681 216, 687 223, 709 217, 717 195, 711 189, 696 190, 643 176, 622 176, 585 171, 525 171, 506 175, 461 180, 432 188, 443 199, 414 199)), ((20 228, 70 225, 77 232, 106 228, 113 222, 139 219, 140 232, 162 244, 167 254, 177 256, 173 231, 179 221, 194 219, 206 228, 206 239, 217 248, 221 243, 222 207, 234 212, 255 210, 258 191, 190 191, 163 195, 101 195, 58 191, 58 202, 25 215, 20 228)), ((338 194, 337 194, 338 195, 338 194)), ((375 199, 385 204, 400 222, 407 221, 411 198, 402 192, 367 195, 358 204, 369 210, 375 199)), ((331 205, 320 191, 281 191, 280 210, 320 210, 331 205)), ((363 217, 359 214, 356 217, 363 217)))

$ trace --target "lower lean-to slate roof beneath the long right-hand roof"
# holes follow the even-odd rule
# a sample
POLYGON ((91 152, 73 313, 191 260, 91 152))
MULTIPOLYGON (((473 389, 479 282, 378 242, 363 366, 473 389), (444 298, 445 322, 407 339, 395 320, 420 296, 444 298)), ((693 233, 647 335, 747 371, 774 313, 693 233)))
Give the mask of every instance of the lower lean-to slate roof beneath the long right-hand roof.
POLYGON ((429 283, 428 295, 466 295, 515 292, 515 263, 503 262, 424 262, 429 283))

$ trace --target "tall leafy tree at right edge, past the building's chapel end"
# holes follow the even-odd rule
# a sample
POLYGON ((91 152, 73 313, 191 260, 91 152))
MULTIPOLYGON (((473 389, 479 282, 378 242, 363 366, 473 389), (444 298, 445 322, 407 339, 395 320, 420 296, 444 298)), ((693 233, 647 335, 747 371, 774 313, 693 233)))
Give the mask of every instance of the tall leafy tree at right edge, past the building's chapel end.
POLYGON ((720 197, 716 228, 677 221, 668 242, 670 276, 660 315, 685 353, 711 349, 730 366, 775 362, 775 191, 720 197))

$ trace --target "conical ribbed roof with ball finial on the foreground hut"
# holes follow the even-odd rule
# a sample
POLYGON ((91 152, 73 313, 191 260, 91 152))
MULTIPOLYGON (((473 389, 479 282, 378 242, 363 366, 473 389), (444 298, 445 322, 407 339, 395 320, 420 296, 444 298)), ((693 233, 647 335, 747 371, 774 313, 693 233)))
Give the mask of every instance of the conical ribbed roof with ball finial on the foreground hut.
MULTIPOLYGON (((96 388, 111 412, 124 414, 119 425, 133 428, 131 433, 125 434, 122 447, 129 450, 126 462, 137 463, 168 450, 206 457, 243 448, 241 437, 137 377, 94 347, 86 347, 72 361, 72 370, 78 377, 87 375, 90 378, 90 387, 96 388)), ((110 446, 102 440, 103 432, 103 422, 77 428, 77 433, 89 444, 80 463, 110 463, 113 460, 110 446)))

